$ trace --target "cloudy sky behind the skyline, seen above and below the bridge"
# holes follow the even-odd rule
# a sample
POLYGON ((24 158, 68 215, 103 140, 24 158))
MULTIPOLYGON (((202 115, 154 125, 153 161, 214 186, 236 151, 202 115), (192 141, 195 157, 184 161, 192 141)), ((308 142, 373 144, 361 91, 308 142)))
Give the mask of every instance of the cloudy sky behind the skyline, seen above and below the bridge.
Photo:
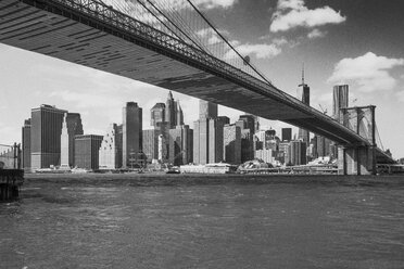
MULTIPOLYGON (((332 113, 332 87, 350 86, 350 106, 376 105, 382 145, 404 157, 404 20, 401 0, 193 0, 223 35, 272 82, 299 97, 302 63, 311 105, 332 113), (320 106, 323 108, 320 108, 320 106)), ((1 23, 0 23, 1 26, 1 23)), ((81 114, 85 133, 122 123, 128 101, 143 108, 168 91, 0 43, 0 143, 21 141, 30 108, 51 104, 81 114)), ((198 100, 173 92, 185 121, 198 119, 198 100)), ((242 112, 220 106, 236 120, 242 112)), ((280 134, 287 125, 261 119, 280 134)))

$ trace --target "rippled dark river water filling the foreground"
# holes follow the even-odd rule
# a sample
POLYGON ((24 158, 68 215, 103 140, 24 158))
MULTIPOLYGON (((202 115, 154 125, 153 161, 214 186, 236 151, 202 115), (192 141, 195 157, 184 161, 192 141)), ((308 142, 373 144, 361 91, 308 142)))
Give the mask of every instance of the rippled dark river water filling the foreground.
POLYGON ((0 268, 404 268, 404 185, 30 180, 0 268))

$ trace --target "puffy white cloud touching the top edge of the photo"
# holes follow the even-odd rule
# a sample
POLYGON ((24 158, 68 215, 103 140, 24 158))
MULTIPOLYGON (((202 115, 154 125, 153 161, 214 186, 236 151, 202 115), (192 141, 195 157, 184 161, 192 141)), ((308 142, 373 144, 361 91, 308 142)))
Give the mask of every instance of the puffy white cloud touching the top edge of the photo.
POLYGON ((312 28, 326 24, 340 24, 346 21, 340 12, 326 5, 310 10, 303 0, 278 0, 277 11, 273 15, 270 31, 286 31, 295 27, 312 28))

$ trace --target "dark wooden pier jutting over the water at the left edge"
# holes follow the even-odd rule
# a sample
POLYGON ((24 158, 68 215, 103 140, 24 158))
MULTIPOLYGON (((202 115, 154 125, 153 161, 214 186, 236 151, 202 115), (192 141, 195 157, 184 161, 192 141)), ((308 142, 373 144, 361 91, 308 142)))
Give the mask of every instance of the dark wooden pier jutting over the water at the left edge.
POLYGON ((18 198, 20 188, 24 182, 24 170, 0 169, 0 202, 18 198))

